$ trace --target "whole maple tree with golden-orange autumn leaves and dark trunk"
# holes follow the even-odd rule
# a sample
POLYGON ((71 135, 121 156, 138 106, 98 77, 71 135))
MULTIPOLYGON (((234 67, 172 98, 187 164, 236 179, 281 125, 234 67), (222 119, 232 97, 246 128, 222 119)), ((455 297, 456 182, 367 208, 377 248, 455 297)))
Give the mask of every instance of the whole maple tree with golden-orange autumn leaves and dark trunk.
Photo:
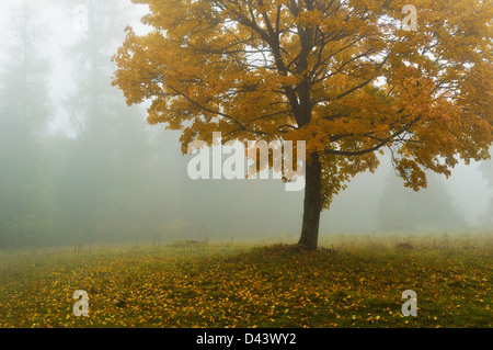
POLYGON ((306 140, 300 245, 320 213, 391 149, 404 184, 488 158, 491 22, 484 0, 133 0, 153 30, 127 36, 113 83, 150 124, 196 139, 306 140))

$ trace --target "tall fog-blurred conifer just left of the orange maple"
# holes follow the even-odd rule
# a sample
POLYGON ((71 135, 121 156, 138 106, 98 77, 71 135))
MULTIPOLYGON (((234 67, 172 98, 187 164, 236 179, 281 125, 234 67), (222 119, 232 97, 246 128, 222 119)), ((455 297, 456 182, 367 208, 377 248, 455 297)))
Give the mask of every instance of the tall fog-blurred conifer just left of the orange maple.
MULTIPOLYGON (((60 226, 78 239, 94 240, 139 230, 146 222, 147 125, 111 84, 112 56, 131 19, 119 0, 71 0, 59 5, 83 9, 87 27, 68 47, 76 88, 62 102, 72 136, 60 140, 58 202, 60 226)), ((150 205, 150 204, 149 204, 150 205)))

